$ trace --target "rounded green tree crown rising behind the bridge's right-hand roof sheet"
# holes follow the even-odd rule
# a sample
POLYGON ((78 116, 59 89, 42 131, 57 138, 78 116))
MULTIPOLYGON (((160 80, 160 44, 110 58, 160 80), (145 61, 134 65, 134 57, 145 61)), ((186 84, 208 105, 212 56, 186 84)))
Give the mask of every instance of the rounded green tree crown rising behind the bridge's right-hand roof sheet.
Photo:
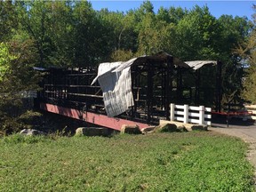
POLYGON ((220 27, 207 6, 196 7, 177 24, 176 54, 182 60, 217 60, 220 27))

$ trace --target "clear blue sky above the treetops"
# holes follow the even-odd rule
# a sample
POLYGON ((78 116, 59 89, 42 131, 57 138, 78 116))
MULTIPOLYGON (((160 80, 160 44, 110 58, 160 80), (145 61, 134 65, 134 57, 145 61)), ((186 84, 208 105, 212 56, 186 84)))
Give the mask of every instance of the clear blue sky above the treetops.
MULTIPOLYGON (((143 1, 136 0, 91 0, 92 8, 94 10, 99 10, 102 8, 108 8, 108 11, 119 11, 126 12, 131 9, 137 9, 140 7, 140 4, 143 1)), ((254 13, 252 10, 252 4, 256 4, 255 1, 237 1, 237 0, 228 0, 228 1, 178 1, 178 0, 159 0, 159 1, 150 1, 154 5, 154 11, 157 13, 158 9, 163 6, 165 8, 169 8, 171 6, 187 8, 188 10, 193 9, 193 7, 197 4, 200 7, 207 5, 209 7, 210 12, 216 18, 219 18, 222 14, 228 14, 239 16, 239 17, 247 17, 249 20, 252 20, 252 14, 254 13)))

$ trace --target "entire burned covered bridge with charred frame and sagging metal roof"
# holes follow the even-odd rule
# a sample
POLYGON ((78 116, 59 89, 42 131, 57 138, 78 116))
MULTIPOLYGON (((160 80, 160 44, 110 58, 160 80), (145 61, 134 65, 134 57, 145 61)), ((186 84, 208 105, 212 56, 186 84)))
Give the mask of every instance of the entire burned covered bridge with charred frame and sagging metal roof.
POLYGON ((122 124, 144 128, 169 119, 170 103, 220 109, 217 61, 183 62, 159 52, 99 68, 37 69, 44 71, 38 108, 116 130, 122 124))

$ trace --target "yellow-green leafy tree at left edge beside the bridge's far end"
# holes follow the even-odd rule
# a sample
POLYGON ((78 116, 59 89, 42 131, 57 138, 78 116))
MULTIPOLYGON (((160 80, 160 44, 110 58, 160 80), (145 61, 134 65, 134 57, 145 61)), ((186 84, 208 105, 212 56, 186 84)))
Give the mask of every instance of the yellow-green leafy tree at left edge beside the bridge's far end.
POLYGON ((33 49, 30 46, 33 47, 33 43, 29 41, 0 45, 0 132, 11 133, 31 128, 32 120, 39 115, 28 110, 21 98, 24 91, 36 91, 40 79, 32 68, 35 58, 31 57, 33 49))

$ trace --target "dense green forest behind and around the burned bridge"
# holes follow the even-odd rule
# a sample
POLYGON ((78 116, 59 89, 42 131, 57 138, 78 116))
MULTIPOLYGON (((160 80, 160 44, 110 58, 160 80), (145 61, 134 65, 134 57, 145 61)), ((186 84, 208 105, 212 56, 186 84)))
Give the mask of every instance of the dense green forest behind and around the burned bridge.
POLYGON ((145 1, 109 12, 87 1, 1 0, 0 126, 23 126, 20 118, 31 115, 20 110, 17 92, 38 88, 32 67, 96 67, 159 51, 180 60, 221 60, 223 100, 256 102, 255 33, 255 20, 215 18, 207 6, 154 12, 145 1))

